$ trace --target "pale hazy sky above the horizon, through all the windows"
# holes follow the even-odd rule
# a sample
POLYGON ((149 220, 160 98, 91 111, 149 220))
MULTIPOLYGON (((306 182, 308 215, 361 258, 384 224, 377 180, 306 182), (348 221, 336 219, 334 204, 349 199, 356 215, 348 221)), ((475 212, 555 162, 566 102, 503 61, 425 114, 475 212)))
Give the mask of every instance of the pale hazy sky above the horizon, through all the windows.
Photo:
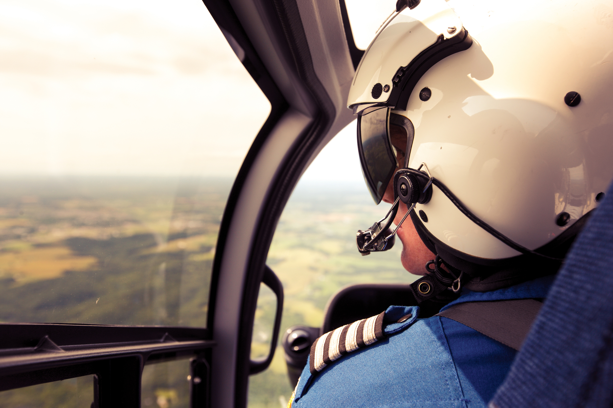
MULTIPOLYGON (((362 48, 372 3, 347 1, 362 48)), ((199 0, 2 0, 0 89, 0 174, 234 176, 270 111, 199 0)), ((355 145, 305 178, 361 180, 355 145)))

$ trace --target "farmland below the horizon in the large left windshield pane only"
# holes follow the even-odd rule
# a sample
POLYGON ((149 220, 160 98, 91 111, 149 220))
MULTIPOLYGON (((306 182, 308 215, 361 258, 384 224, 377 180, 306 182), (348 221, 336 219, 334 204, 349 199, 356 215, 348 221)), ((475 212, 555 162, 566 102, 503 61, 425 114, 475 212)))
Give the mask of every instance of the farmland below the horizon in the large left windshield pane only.
POLYGON ((228 184, 0 179, 0 320, 206 325, 228 184))

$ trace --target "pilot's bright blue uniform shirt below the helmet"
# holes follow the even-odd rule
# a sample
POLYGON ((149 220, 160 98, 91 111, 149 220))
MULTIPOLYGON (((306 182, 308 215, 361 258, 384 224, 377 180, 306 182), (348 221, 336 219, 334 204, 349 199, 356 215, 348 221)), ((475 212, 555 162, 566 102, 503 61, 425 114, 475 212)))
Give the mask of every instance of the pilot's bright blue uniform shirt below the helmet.
MULTIPOLYGON (((454 304, 545 298, 553 276, 491 292, 463 290, 454 304)), ((387 337, 302 372, 292 408, 485 407, 506 377, 516 351, 446 317, 417 319, 417 306, 390 306, 387 337)))

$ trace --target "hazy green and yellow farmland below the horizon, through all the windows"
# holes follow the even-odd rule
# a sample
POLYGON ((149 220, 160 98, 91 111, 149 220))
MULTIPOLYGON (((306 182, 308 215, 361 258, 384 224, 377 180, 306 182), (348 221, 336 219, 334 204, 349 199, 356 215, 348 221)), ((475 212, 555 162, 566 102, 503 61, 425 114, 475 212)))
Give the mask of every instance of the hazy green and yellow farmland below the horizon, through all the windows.
MULTIPOLYGON (((205 326, 216 235, 231 183, 0 179, 0 321, 205 326)), ((267 260, 284 286, 282 330, 321 325, 327 300, 345 285, 413 280, 400 265, 400 244, 367 257, 356 250, 356 230, 386 210, 373 204, 365 186, 297 187, 267 260)), ((262 289, 254 358, 270 344, 274 312, 274 295, 262 289)), ((187 366, 147 366, 143 406, 186 406, 187 366)), ((89 383, 84 378, 4 391, 0 406, 82 406, 89 383), (39 394, 44 402, 32 399, 39 394)), ((270 368, 251 377, 249 407, 280 407, 291 391, 278 349, 270 368)))

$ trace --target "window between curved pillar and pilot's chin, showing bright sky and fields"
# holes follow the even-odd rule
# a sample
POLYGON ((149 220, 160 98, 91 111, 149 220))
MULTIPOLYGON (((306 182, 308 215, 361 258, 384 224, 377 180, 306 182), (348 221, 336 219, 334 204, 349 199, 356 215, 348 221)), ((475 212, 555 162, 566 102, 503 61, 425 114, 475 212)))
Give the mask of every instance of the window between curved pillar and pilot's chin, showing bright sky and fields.
MULTIPOLYGON (((363 257, 356 231, 385 213, 373 205, 357 154, 356 121, 322 149, 304 173, 283 210, 266 263, 283 283, 283 319, 278 349, 270 367, 249 377, 249 407, 287 405, 294 387, 281 346, 287 328, 319 328, 330 297, 349 284, 409 283, 415 278, 398 259, 402 244, 363 257), (267 405, 268 404, 268 405, 267 405)), ((272 322, 275 297, 258 299, 256 319, 272 322)), ((252 353, 266 350, 268 327, 254 327, 252 353)), ((300 374, 297 373, 296 376, 300 374)))

